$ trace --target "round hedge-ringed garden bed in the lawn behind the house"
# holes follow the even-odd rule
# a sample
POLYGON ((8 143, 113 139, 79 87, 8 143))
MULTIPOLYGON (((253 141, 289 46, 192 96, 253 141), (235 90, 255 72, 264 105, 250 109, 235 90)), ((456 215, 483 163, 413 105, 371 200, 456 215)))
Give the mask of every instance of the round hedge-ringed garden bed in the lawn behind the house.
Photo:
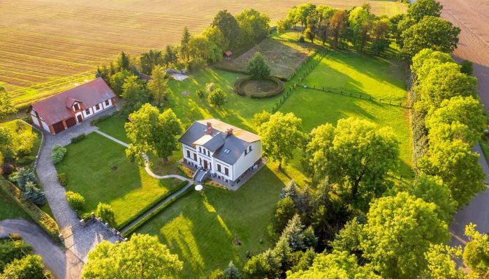
POLYGON ((284 90, 284 82, 276 77, 266 77, 263 80, 254 80, 252 77, 243 77, 234 84, 234 91, 241 96, 251 98, 269 98, 284 90))

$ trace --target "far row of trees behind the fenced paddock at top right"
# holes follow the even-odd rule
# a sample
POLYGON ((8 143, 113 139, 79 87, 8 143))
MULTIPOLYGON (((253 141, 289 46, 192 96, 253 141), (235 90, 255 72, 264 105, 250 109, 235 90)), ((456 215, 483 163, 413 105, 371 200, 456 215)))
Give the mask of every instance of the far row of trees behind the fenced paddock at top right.
POLYGON ((421 0, 409 6, 406 14, 389 18, 370 13, 367 3, 350 10, 304 3, 279 20, 277 32, 284 33, 300 23, 312 43, 315 39, 323 45, 329 41, 333 47, 348 47, 351 43, 356 50, 373 54, 381 54, 395 40, 400 56, 409 61, 426 47, 450 52, 457 46, 460 29, 439 17, 441 8, 435 0, 421 0))

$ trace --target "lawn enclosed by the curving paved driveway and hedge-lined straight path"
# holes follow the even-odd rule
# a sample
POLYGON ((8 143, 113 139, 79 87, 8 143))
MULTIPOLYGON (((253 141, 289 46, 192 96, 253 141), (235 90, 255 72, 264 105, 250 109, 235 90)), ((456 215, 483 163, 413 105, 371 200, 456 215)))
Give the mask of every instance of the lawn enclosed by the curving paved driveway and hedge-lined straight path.
POLYGON ((68 176, 66 190, 85 197, 85 212, 95 211, 98 202, 110 204, 117 224, 180 185, 178 179, 149 176, 143 167, 129 162, 124 146, 96 133, 66 149, 64 160, 56 166, 58 173, 68 176))

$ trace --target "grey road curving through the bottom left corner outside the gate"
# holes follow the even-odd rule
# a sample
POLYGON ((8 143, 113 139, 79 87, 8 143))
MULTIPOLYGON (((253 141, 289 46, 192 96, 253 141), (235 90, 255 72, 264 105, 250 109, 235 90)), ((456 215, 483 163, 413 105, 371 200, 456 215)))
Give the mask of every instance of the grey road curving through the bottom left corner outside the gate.
POLYGON ((43 262, 57 279, 78 279, 83 262, 70 250, 54 243, 38 225, 22 219, 0 221, 0 238, 8 234, 20 234, 29 243, 34 253, 43 257, 43 262))

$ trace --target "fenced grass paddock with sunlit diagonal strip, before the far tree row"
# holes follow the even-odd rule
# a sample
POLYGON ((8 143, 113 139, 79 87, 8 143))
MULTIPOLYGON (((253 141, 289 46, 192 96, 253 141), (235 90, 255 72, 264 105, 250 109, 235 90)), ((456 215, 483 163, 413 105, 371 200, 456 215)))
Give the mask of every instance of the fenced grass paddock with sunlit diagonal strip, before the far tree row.
POLYGON ((301 83, 400 101, 406 99, 406 78, 397 61, 334 50, 301 83))

